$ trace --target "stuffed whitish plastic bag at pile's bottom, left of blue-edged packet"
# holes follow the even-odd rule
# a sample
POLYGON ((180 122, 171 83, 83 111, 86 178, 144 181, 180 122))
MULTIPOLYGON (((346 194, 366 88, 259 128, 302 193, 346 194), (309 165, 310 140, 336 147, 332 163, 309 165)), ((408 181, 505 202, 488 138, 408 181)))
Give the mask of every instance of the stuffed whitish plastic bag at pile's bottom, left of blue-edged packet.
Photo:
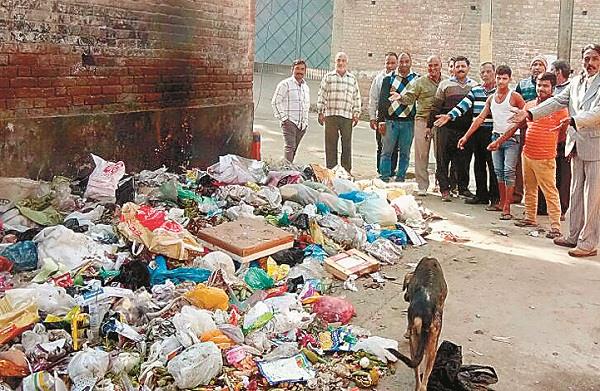
POLYGON ((213 342, 190 346, 167 364, 167 370, 179 388, 207 385, 223 367, 221 350, 213 342))

